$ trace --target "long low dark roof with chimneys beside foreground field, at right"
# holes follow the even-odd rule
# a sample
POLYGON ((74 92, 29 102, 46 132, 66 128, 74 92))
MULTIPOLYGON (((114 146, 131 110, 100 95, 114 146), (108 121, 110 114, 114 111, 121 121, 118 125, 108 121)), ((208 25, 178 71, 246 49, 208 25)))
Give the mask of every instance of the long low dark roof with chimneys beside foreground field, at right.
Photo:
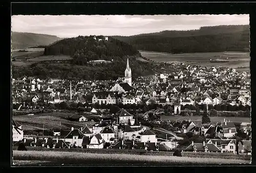
POLYGON ((221 152, 221 150, 218 148, 218 146, 215 143, 192 143, 186 147, 184 150, 186 152, 221 152))

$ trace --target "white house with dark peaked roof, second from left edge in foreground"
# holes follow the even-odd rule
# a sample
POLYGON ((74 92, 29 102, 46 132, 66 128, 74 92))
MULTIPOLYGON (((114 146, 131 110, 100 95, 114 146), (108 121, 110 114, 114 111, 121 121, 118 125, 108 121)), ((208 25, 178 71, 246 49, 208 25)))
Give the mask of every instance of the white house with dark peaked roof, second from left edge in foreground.
POLYGON ((83 133, 79 129, 74 129, 73 127, 71 128, 71 131, 69 134, 64 138, 65 142, 69 142, 71 146, 82 146, 82 141, 83 141, 83 133))

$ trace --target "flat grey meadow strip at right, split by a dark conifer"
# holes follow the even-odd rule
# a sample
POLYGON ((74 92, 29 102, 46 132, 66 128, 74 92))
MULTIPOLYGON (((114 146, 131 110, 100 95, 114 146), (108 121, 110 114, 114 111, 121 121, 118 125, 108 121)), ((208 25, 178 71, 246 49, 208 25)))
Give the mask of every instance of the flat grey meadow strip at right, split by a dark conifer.
MULTIPOLYGON (((250 122, 250 118, 247 117, 210 117, 211 122, 223 122, 224 118, 232 121, 232 122, 250 122)), ((194 122, 202 122, 201 116, 161 116, 162 120, 173 120, 173 121, 183 121, 183 120, 191 120, 194 122)))

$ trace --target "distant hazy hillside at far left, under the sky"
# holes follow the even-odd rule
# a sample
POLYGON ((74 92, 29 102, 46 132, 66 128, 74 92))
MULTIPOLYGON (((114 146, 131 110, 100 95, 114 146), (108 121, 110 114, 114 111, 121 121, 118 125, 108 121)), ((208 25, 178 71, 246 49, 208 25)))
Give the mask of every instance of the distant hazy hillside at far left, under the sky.
POLYGON ((57 40, 61 40, 57 36, 34 33, 12 32, 12 48, 29 48, 33 46, 44 46, 51 44, 57 40))

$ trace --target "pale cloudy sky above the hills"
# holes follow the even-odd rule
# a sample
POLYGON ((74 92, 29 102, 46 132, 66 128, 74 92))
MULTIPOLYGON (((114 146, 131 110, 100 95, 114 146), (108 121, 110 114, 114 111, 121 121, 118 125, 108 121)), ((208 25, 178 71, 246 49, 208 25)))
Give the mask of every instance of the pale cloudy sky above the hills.
POLYGON ((13 32, 56 35, 131 36, 165 30, 249 24, 249 15, 13 15, 13 32))

